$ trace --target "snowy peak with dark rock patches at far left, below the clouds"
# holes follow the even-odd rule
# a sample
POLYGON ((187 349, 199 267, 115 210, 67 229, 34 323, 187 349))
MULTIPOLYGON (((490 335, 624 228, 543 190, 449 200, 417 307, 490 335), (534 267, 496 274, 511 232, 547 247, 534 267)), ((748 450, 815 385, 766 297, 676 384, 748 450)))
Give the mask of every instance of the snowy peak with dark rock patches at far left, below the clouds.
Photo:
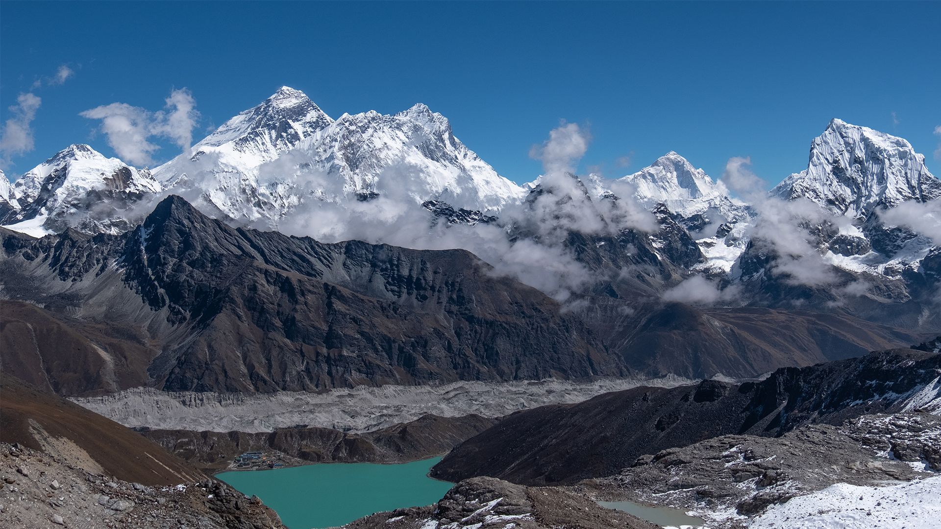
MULTIPOLYGON (((6 177, 3 180, 6 183, 6 177)), ((123 232, 131 225, 134 204, 160 189, 149 170, 75 144, 9 186, 7 207, 0 206, 0 223, 36 236, 70 227, 123 232)), ((3 191, 0 188, 0 198, 3 191)))

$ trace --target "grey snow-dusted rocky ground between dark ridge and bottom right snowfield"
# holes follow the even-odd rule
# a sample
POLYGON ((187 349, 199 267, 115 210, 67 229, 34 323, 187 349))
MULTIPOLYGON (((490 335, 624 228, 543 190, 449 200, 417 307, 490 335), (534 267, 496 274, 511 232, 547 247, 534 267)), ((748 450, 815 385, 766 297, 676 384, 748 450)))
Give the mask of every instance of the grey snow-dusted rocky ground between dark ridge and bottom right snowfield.
POLYGON ((780 438, 731 435, 670 448, 587 486, 604 497, 666 498, 672 506, 751 516, 835 483, 880 486, 936 475, 939 439, 936 415, 864 415, 841 426, 801 426, 780 438), (912 464, 921 462, 920 469, 912 464))

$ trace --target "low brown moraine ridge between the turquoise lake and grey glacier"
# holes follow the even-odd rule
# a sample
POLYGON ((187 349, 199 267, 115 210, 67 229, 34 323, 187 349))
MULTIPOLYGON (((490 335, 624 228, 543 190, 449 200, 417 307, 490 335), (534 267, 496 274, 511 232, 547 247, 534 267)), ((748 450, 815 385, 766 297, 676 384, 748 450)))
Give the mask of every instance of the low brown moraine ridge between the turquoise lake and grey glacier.
POLYGON ((311 462, 358 461, 395 463, 439 456, 461 441, 495 425, 480 415, 420 419, 361 434, 332 428, 279 428, 273 432, 193 432, 140 430, 140 433, 196 466, 218 470, 232 457, 257 450, 275 450, 311 462))

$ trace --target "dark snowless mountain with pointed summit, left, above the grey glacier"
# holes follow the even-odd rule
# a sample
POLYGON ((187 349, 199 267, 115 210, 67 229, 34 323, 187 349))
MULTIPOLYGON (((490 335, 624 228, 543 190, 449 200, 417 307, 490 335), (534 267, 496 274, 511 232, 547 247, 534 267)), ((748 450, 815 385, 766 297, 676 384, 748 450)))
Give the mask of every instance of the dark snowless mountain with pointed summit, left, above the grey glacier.
MULTIPOLYGON (((140 384, 133 366, 141 362, 150 383, 168 391, 628 373, 556 302, 495 277, 464 250, 322 244, 233 229, 178 197, 121 235, 0 237, 8 297, 83 323, 107 322, 122 329, 124 349, 140 348, 127 360, 134 376, 116 377, 118 389, 140 384)), ((57 322, 50 325, 64 321, 48 311, 20 312, 57 322)), ((10 340, 25 343, 31 321, 18 324, 10 340)), ((93 359, 93 347, 74 342, 93 359)), ((49 366, 71 353, 50 346, 38 354, 49 366)), ((64 378, 73 371, 47 368, 50 386, 76 394, 104 384, 70 385, 64 378)))

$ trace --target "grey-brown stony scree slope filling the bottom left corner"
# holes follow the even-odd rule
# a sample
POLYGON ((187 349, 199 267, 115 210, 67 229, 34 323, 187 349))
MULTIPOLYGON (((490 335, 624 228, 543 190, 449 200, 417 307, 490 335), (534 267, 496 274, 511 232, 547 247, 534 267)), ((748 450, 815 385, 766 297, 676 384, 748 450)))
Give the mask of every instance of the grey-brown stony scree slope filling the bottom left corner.
POLYGON ((283 527, 257 497, 219 481, 148 487, 16 444, 0 443, 0 480, 0 525, 10 529, 283 527))

